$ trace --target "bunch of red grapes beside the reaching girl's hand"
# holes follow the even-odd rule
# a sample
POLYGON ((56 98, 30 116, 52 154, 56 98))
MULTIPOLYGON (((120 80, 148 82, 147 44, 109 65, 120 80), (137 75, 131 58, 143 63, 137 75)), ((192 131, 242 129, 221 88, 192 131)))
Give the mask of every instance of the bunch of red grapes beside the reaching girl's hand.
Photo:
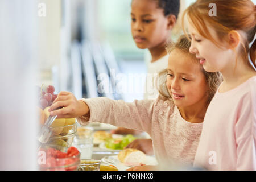
POLYGON ((40 102, 40 108, 44 110, 44 108, 51 106, 52 102, 56 99, 57 94, 54 94, 54 86, 49 85, 46 88, 46 92, 43 90, 43 88, 40 88, 40 97, 39 97, 39 102, 40 102))

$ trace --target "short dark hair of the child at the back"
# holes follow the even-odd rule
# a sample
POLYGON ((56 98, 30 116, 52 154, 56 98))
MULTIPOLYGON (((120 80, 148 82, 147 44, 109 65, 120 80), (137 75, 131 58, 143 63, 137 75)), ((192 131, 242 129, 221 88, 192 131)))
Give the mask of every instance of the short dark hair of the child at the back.
POLYGON ((164 10, 164 16, 173 14, 178 18, 180 11, 180 0, 154 0, 158 1, 159 8, 164 10))

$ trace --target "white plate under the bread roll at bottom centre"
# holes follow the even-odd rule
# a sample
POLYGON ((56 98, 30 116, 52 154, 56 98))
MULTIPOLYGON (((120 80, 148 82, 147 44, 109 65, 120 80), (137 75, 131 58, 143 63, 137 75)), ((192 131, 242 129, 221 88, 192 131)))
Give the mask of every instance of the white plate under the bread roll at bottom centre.
MULTIPOLYGON (((121 163, 118 160, 118 155, 105 156, 104 158, 101 159, 101 161, 106 164, 109 164, 109 165, 114 165, 115 167, 118 168, 119 171, 125 171, 126 169, 133 167, 133 166, 126 166, 125 164, 121 163)), ((158 162, 154 156, 146 155, 146 158, 145 158, 143 164, 158 165, 158 162)))

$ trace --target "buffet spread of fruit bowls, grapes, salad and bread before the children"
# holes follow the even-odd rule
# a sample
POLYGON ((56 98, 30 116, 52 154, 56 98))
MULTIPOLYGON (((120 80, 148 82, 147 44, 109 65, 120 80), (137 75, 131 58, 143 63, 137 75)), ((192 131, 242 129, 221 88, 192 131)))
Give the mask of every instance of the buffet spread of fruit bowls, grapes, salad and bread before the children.
MULTIPOLYGON (((55 88, 51 85, 47 86, 46 90, 43 90, 42 87, 40 88, 38 109, 41 125, 49 117, 50 113, 48 110, 57 98, 57 94, 54 92, 55 88)), ((47 147, 42 146, 39 150, 46 154, 46 162, 40 164, 41 170, 118 171, 118 169, 123 169, 122 165, 127 167, 144 164, 146 155, 142 151, 136 149, 123 150, 123 148, 136 139, 131 134, 123 136, 112 134, 108 131, 93 132, 94 128, 88 126, 77 128, 76 118, 57 118, 49 126, 49 129, 51 129, 52 133, 46 144, 47 147), (117 164, 119 163, 118 168, 113 166, 113 163, 105 162, 105 164, 101 164, 101 160, 91 159, 92 155, 88 158, 82 157, 80 148, 74 145, 74 143, 76 143, 77 139, 79 144, 85 147, 85 138, 92 138, 91 144, 93 140, 94 145, 100 144, 99 147, 104 146, 105 150, 122 150, 114 158, 114 161, 117 164)), ((87 148, 86 152, 88 153, 87 148)))

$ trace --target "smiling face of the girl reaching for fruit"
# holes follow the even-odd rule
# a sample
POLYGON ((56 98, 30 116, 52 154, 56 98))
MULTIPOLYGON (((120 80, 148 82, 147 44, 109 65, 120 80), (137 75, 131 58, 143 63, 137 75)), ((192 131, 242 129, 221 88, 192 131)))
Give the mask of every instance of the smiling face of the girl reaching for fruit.
POLYGON ((189 53, 174 49, 168 61, 166 85, 178 107, 196 107, 208 100, 208 84, 200 64, 189 53))

